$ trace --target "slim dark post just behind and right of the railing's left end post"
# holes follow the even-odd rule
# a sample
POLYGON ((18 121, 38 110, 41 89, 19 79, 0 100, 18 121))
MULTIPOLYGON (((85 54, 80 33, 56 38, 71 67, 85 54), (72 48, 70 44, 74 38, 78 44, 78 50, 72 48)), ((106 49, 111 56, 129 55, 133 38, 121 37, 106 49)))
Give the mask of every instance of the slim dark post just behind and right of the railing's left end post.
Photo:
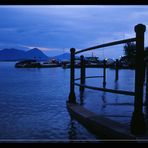
MULTIPOLYGON (((81 60, 80 84, 84 85, 85 84, 85 60, 83 55, 80 56, 80 60, 81 60)), ((84 91, 84 86, 80 86, 80 91, 82 92, 84 91)))

